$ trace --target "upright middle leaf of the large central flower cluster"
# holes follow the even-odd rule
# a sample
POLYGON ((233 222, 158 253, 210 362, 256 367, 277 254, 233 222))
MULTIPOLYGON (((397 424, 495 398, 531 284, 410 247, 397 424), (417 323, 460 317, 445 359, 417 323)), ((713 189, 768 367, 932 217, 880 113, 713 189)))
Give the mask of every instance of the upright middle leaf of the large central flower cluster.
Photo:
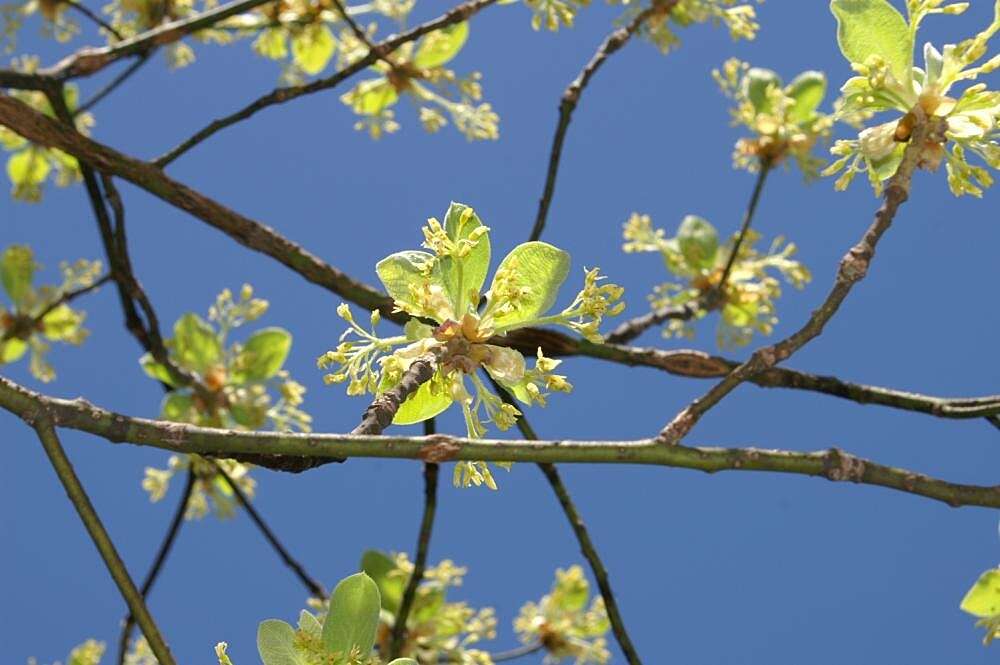
MULTIPOLYGON (((468 240, 476 229, 483 226, 479 215, 469 206, 452 201, 444 217, 444 230, 453 242, 468 240)), ((461 318, 471 303, 470 296, 478 294, 486 282, 490 269, 490 236, 483 233, 474 247, 461 258, 441 257, 441 275, 445 289, 455 305, 455 317, 461 318)))

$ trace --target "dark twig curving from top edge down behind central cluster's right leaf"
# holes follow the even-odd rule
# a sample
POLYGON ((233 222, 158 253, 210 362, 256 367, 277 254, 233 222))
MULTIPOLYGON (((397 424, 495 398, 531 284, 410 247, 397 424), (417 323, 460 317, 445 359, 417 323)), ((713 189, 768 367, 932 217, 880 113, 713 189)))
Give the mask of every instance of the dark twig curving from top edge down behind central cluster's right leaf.
POLYGON ((635 15, 628 25, 618 28, 608 35, 597 52, 594 53, 590 62, 583 68, 573 82, 563 91, 559 101, 559 121, 556 124, 556 132, 552 137, 552 148, 549 152, 549 166, 545 175, 545 187, 542 190, 542 197, 538 201, 538 214, 535 216, 535 225, 531 229, 530 240, 538 240, 545 230, 545 222, 549 214, 549 206, 552 204, 552 197, 556 189, 556 176, 559 174, 559 162, 562 159, 563 143, 566 141, 566 132, 569 123, 573 119, 573 111, 580 103, 580 95, 590 83, 597 70, 607 61, 608 57, 625 46, 632 36, 639 31, 642 24, 656 14, 669 13, 679 0, 666 0, 661 4, 654 3, 643 11, 635 15))

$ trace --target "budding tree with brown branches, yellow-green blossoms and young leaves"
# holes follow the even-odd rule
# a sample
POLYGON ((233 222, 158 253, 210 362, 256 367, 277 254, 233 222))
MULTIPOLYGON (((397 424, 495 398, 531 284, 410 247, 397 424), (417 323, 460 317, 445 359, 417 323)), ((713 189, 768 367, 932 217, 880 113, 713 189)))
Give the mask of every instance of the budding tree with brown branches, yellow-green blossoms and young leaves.
MULTIPOLYGON (((634 302, 626 309, 623 288, 605 279, 602 271, 588 265, 581 277, 580 266, 563 248, 541 240, 554 222, 551 207, 558 196, 557 176, 574 114, 596 80, 595 74, 630 41, 651 41, 664 53, 672 52, 680 46, 684 29, 698 23, 721 25, 734 38, 753 38, 759 26, 756 10, 749 4, 729 0, 657 0, 648 6, 622 3, 617 27, 601 41, 561 97, 537 215, 518 238, 527 242, 514 240, 506 245, 516 236, 483 214, 475 201, 452 202, 440 221, 430 219, 423 227, 422 241, 414 225, 412 236, 386 242, 391 244, 383 252, 388 256, 368 257, 381 287, 370 286, 320 258, 327 255, 325 250, 311 252, 168 174, 168 169, 176 168, 175 162, 208 144, 216 134, 270 107, 290 110, 294 100, 331 88, 341 89, 341 101, 357 116, 356 127, 372 139, 387 138, 400 129, 403 102, 414 104, 429 132, 443 133, 450 125, 470 141, 497 139, 500 118, 490 103, 482 101, 490 82, 481 82, 477 73, 462 72, 458 64, 463 60, 457 59, 474 43, 470 24, 480 21, 478 14, 493 4, 498 3, 470 0, 410 28, 413 7, 405 2, 353 7, 338 0, 280 5, 243 0, 219 7, 116 3, 103 14, 80 3, 9 8, 5 25, 10 37, 16 35, 22 20, 39 13, 43 27, 59 40, 94 27, 91 24, 107 40, 104 47, 78 49, 53 66, 39 67, 37 60, 21 58, 11 69, 0 71, 0 85, 8 89, 0 96, 0 125, 5 128, 0 139, 9 152, 12 195, 39 203, 43 195, 54 194, 47 191, 52 184, 82 182, 104 250, 101 263, 64 264, 61 282, 39 286, 38 278, 44 273, 36 254, 44 251, 44 243, 39 244, 44 236, 34 250, 24 244, 6 248, 0 260, 8 296, 0 319, 4 330, 0 359, 11 365, 27 363, 39 381, 54 379, 58 364, 47 359, 49 347, 55 342, 85 343, 82 303, 99 287, 113 284, 126 328, 144 354, 138 367, 164 393, 160 420, 118 414, 82 399, 58 399, 7 378, 0 379, 0 406, 34 428, 126 600, 129 618, 121 635, 120 659, 152 662, 155 657, 160 663, 175 662, 145 596, 172 551, 184 519, 204 516, 210 510, 220 516, 246 511, 312 597, 311 611, 303 612, 297 628, 277 620, 260 625, 259 653, 267 665, 273 665, 396 658, 402 662, 488 663, 538 652, 556 661, 605 662, 612 641, 627 662, 641 662, 641 649, 630 637, 608 566, 557 464, 771 471, 878 486, 951 506, 1000 506, 996 486, 932 477, 840 448, 805 453, 687 442, 695 425, 707 420, 744 383, 875 404, 911 412, 913 417, 977 419, 1000 428, 998 397, 941 398, 811 374, 790 369, 785 362, 809 346, 831 320, 839 319, 848 296, 860 290, 876 247, 882 246, 883 236, 907 210, 904 206, 913 194, 918 171, 946 172, 947 185, 956 197, 983 196, 992 183, 989 169, 997 168, 1000 161, 996 143, 1000 93, 977 79, 1000 65, 989 53, 990 40, 1000 30, 1000 3, 987 16, 986 27, 979 26, 971 38, 950 37, 949 45, 918 49, 922 21, 934 14, 963 14, 968 3, 911 0, 904 14, 885 0, 834 0, 836 41, 853 76, 843 77, 841 97, 833 103, 828 99, 833 95, 828 94, 827 76, 818 71, 805 69, 796 74, 793 68, 779 74, 738 59, 719 65, 714 78, 732 100, 732 119, 743 134, 736 143, 733 163, 753 174, 755 184, 742 224, 728 238, 720 236, 721 225, 697 215, 684 217, 676 232, 669 234, 649 215, 628 217, 623 249, 659 254, 666 271, 665 277, 647 277, 643 284, 650 292, 651 307, 646 313, 634 302), (383 36, 395 25, 398 33, 383 36), (241 39, 252 40, 257 54, 281 64, 280 87, 205 125, 151 161, 88 138, 95 117, 99 119, 97 103, 118 91, 156 52, 164 52, 174 67, 196 67, 189 41, 231 44, 241 39), (87 97, 80 94, 77 85, 112 69, 118 73, 103 87, 95 86, 87 97), (835 136, 845 138, 833 144, 834 161, 828 164, 824 144, 835 136), (814 309, 803 317, 804 323, 784 324, 787 317, 783 315, 779 328, 776 312, 782 282, 804 289, 812 280, 811 272, 795 258, 795 244, 775 239, 768 249, 757 247, 762 237, 754 228, 758 207, 768 181, 784 167, 801 171, 807 180, 837 174, 837 189, 847 188, 858 173, 865 173, 882 203, 835 274, 826 278, 830 287, 825 295, 823 287, 810 288, 807 295, 814 309), (313 417, 304 410, 305 387, 286 368, 293 335, 299 337, 300 331, 259 327, 257 319, 267 311, 268 302, 249 285, 235 294, 222 291, 207 317, 190 311, 194 304, 185 303, 185 313, 172 329, 161 326, 153 298, 137 276, 142 264, 132 259, 126 203, 128 210, 134 209, 133 192, 120 194, 121 182, 275 259, 343 301, 337 314, 346 332, 334 341, 340 330, 326 331, 329 350, 311 351, 318 356, 325 382, 344 384, 349 396, 367 396, 363 400, 367 408, 356 409, 360 424, 345 434, 312 432, 313 417), (560 291, 568 295, 560 298, 560 291), (361 316, 359 311, 366 313, 361 316), (616 316, 624 320, 605 321, 616 316), (754 350, 746 360, 738 361, 670 346, 632 344, 660 326, 668 338, 694 337, 703 329, 702 319, 716 328, 715 345, 723 351, 754 350), (392 325, 401 329, 383 332, 392 325), (768 336, 773 339, 766 340, 768 336), (558 393, 571 392, 574 383, 580 384, 570 363, 560 366, 563 359, 574 356, 620 365, 617 369, 623 372, 642 366, 714 382, 675 415, 664 418, 662 429, 653 436, 586 443, 539 437, 529 424, 535 413, 529 407, 544 406, 550 399, 572 399, 558 393), (464 430, 458 432, 464 436, 435 432, 435 419, 449 411, 461 415, 464 430), (424 436, 387 430, 390 424, 420 423, 424 436), (491 438, 495 430, 514 427, 520 439, 491 438), (140 588, 66 456, 60 435, 72 430, 175 454, 166 469, 147 468, 143 480, 154 501, 166 496, 176 475, 184 478, 184 487, 140 588), (418 543, 412 562, 404 554, 365 552, 358 567, 363 574, 348 576, 357 568, 339 571, 343 574, 338 576, 345 579, 328 597, 323 585, 293 558, 251 503, 257 482, 250 475, 251 467, 302 472, 358 457, 422 461, 425 500, 418 543), (517 617, 514 625, 524 646, 513 652, 491 653, 481 648, 481 642, 496 632, 496 617, 488 608, 475 610, 454 600, 454 591, 446 597, 465 570, 447 560, 436 566, 428 560, 439 466, 452 462, 454 483, 467 487, 467 492, 503 485, 504 477, 498 480, 494 472, 497 467, 509 468, 514 462, 536 464, 568 518, 596 584, 591 599, 582 568, 557 571, 551 590, 544 596, 539 593, 540 599, 526 604, 517 617), (130 642, 133 621, 143 638, 130 642)), ((531 10, 536 30, 558 31, 572 25, 585 3, 528 0, 524 4, 531 10)), ((826 15, 825 9, 822 14, 826 15)), ((831 19, 827 31, 831 43, 833 26, 831 19)), ((796 65, 798 69, 809 66, 796 65)), ((701 103, 689 102, 689 110, 701 103)), ((435 139, 448 140, 447 135, 435 139)), ((433 157, 424 161, 434 164, 433 157)), ((787 231, 794 236, 799 230, 787 231)), ((334 235, 341 251, 350 247, 349 234, 341 230, 334 235)), ((322 399, 338 408, 358 402, 334 402, 330 389, 322 399)), ((334 516, 332 510, 325 515, 327 519, 334 516)), ((359 554, 365 549, 363 543, 349 545, 359 554)), ((988 570, 962 601, 962 608, 985 627, 987 642, 1000 630, 998 587, 1000 574, 988 570)), ((74 650, 70 662, 97 662, 102 650, 97 642, 84 643, 74 650)), ((216 653, 220 663, 229 662, 224 643, 216 653)), ((644 657, 647 662, 661 658, 657 651, 644 657)))

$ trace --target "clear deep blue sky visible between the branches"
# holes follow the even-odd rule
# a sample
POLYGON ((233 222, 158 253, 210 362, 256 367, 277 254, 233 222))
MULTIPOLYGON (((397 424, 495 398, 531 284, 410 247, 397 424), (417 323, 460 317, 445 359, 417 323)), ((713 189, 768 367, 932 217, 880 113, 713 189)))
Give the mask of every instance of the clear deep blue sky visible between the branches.
MULTIPOLYGON (((850 71, 826 5, 770 0, 759 8, 763 29, 752 43, 733 43, 723 30, 705 26, 684 31, 683 47, 666 57, 637 41, 594 79, 570 128, 545 239, 572 253, 575 270, 600 265, 623 284, 627 314, 643 312, 646 294, 665 279, 656 257, 620 251, 629 213, 648 213, 670 231, 696 213, 728 232, 738 226, 752 187, 751 176, 731 168, 738 132, 728 124, 712 68, 738 56, 786 79, 821 69, 839 85, 850 71)), ((985 0, 973 5, 961 18, 931 19, 925 36, 938 44, 970 36, 992 12, 985 0)), ((447 6, 422 0, 416 16, 447 6)), ((614 14, 595 3, 574 29, 555 35, 533 32, 519 5, 491 8, 473 21, 469 44, 454 64, 483 72, 486 99, 501 116, 498 142, 468 143, 449 130, 427 135, 409 109, 399 113, 402 131, 372 142, 352 130, 340 90, 260 113, 169 172, 368 282, 375 280, 378 259, 415 247, 420 225, 443 214, 452 199, 476 207, 503 253, 526 238, 534 220, 559 95, 614 14)), ((24 48, 44 49, 43 60, 52 62, 56 52, 39 45, 33 30, 25 33, 24 48)), ((277 67, 247 43, 197 51, 195 66, 171 72, 157 59, 103 102, 95 136, 153 157, 276 81, 277 67)), ((93 90, 100 80, 84 86, 93 90)), ((262 324, 295 335, 288 366, 308 386, 305 406, 316 428, 353 427, 365 401, 324 387, 314 365, 340 333, 339 301, 140 190, 123 185, 122 193, 133 260, 164 324, 186 311, 203 313, 224 287, 252 282, 272 302, 262 324)), ((869 278, 789 366, 938 395, 997 392, 1000 310, 990 286, 998 274, 997 195, 956 200, 943 173, 918 174, 869 278)), ((794 240, 815 276, 805 291, 789 289, 781 299, 776 335, 800 326, 823 298, 837 261, 876 205, 862 180, 835 193, 830 181, 807 186, 795 172, 773 176, 756 227, 766 238, 794 240)), ((50 190, 42 205, 0 199, 0 224, 3 244, 31 243, 50 277, 60 260, 101 256, 80 187, 50 190)), ((121 325, 113 290, 82 306, 92 337, 82 349, 53 354, 59 378, 44 389, 155 415, 159 388, 139 370, 140 350, 121 325)), ((714 320, 706 322, 691 342, 661 340, 656 331, 640 342, 716 351, 713 327, 714 320)), ((708 387, 586 359, 567 360, 562 369, 576 390, 529 412, 542 436, 647 436, 708 387)), ((23 364, 4 373, 40 387, 23 364)), ((453 415, 440 428, 461 431, 453 415)), ((5 662, 62 658, 88 637, 113 643, 123 602, 40 446, 6 413, 0 413, 0 433, 5 662)), ((837 445, 980 484, 996 483, 1000 465, 998 432, 984 421, 939 421, 752 386, 714 409, 688 440, 799 450, 837 445)), ((139 481, 144 466, 162 465, 167 455, 74 432, 65 432, 64 442, 125 561, 141 577, 179 487, 164 503, 150 505, 139 481)), ((367 548, 413 547, 422 492, 414 463, 354 460, 301 476, 255 475, 256 505, 327 585, 353 572, 367 548)), ((577 466, 566 467, 564 476, 647 663, 995 660, 958 610, 971 582, 996 565, 994 511, 759 473, 577 466)), ((495 493, 444 483, 431 549, 434 561, 450 558, 469 567, 455 597, 496 608, 497 649, 515 644, 511 620, 548 589, 554 569, 583 563, 537 469, 515 466, 499 481, 495 493)), ((209 662, 212 646, 226 640, 235 662, 246 665, 258 662, 257 623, 290 620, 303 601, 296 580, 241 515, 188 524, 150 606, 180 662, 209 662)))

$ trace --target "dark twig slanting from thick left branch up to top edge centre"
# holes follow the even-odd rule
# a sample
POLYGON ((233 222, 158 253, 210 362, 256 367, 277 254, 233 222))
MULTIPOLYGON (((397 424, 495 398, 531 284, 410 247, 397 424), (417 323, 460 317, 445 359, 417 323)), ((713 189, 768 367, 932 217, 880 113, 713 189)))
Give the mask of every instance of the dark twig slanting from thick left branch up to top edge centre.
POLYGON ((387 39, 375 44, 371 47, 366 55, 355 60, 349 64, 344 69, 336 72, 332 76, 326 78, 317 79, 310 83, 303 85, 292 85, 286 86, 284 88, 275 88, 271 92, 262 97, 258 97, 256 100, 250 102, 243 108, 227 116, 219 118, 212 121, 203 129, 197 131, 193 136, 183 141, 177 147, 171 149, 169 152, 153 160, 153 164, 159 167, 165 167, 178 157, 186 153, 191 148, 194 148, 198 144, 202 143, 210 136, 216 132, 235 125, 238 122, 246 120, 250 116, 254 115, 258 111, 268 108, 269 106, 274 106, 275 104, 283 104, 285 102, 291 101, 302 95, 312 94, 314 92, 320 92, 322 90, 329 90, 340 84, 345 79, 350 78, 357 72, 370 67, 381 57, 388 56, 390 53, 395 51, 397 48, 406 44, 407 42, 412 42, 423 35, 433 32, 435 30, 440 30, 441 28, 453 25, 455 23, 460 23, 476 12, 485 9, 486 7, 494 4, 497 0, 468 0, 463 4, 456 6, 454 9, 442 14, 433 21, 428 21, 422 25, 419 25, 412 30, 408 30, 401 35, 393 35, 387 39))

